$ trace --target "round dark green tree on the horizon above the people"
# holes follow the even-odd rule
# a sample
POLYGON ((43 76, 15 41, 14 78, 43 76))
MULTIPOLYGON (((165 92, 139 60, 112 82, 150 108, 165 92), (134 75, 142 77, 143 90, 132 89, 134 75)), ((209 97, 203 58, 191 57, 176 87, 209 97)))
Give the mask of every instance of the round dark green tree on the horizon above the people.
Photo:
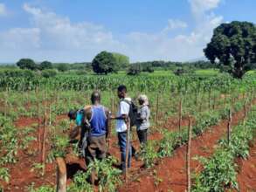
POLYGON ((97 74, 107 74, 108 72, 117 72, 118 65, 112 53, 101 51, 93 58, 93 72, 97 74))

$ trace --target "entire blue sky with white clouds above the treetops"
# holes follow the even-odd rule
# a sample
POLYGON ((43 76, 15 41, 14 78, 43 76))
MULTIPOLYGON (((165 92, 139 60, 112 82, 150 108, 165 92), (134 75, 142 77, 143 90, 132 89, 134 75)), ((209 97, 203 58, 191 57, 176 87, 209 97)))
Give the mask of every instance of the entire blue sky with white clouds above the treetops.
POLYGON ((218 24, 256 23, 255 0, 0 0, 0 62, 91 61, 100 51, 132 62, 187 61, 218 24))

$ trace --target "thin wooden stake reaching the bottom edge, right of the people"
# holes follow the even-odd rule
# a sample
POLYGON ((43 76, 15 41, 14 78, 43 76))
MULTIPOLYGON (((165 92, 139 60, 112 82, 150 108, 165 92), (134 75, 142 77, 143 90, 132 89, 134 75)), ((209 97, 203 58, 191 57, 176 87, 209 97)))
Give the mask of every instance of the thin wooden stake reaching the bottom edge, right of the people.
POLYGON ((191 137, 192 137, 192 124, 191 118, 189 116, 189 128, 188 128, 188 146, 187 146, 187 191, 190 192, 191 189, 191 181, 190 181, 190 148, 191 148, 191 137))

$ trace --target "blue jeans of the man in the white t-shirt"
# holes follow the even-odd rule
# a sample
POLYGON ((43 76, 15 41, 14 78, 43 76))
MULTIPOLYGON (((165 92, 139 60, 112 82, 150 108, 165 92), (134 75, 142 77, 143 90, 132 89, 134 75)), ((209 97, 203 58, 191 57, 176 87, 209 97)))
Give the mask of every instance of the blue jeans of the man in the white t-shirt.
MULTIPOLYGON (((121 151, 121 168, 122 170, 125 170, 125 159, 126 159, 126 144, 127 144, 127 132, 121 132, 118 133, 118 144, 121 151)), ((128 168, 131 166, 131 154, 132 154, 132 148, 131 144, 129 143, 129 151, 128 151, 128 168)))

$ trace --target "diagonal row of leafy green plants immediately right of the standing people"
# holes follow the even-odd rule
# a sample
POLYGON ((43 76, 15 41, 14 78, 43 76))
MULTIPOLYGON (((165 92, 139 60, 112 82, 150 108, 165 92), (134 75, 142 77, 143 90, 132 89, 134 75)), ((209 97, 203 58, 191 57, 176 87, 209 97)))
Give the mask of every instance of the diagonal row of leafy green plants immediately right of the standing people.
MULTIPOLYGON (((241 110, 244 103, 244 100, 235 103, 233 113, 241 110)), ((192 126, 192 137, 203 134, 206 129, 217 125, 219 120, 227 119, 229 107, 225 106, 216 111, 197 113, 196 123, 192 126)), ((149 141, 148 145, 142 149, 142 160, 148 168, 155 165, 157 158, 171 156, 177 147, 188 142, 188 127, 183 127, 181 131, 175 132, 163 129, 162 133, 163 139, 161 141, 149 141), (157 151, 156 148, 158 148, 157 151)))

